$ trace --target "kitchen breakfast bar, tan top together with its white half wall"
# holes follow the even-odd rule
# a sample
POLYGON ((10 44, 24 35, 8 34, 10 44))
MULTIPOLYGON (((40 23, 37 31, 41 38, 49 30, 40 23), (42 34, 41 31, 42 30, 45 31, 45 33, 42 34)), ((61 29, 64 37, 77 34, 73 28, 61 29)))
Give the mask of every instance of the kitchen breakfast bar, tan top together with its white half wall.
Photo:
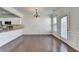
POLYGON ((8 25, 6 29, 0 30, 0 47, 21 36, 22 31, 23 25, 8 25))

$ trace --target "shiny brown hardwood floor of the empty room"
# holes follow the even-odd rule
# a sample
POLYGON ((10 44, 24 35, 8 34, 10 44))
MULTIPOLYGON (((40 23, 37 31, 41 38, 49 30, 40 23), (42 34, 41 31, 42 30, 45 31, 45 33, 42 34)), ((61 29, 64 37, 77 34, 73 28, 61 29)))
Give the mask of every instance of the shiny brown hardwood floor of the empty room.
POLYGON ((2 52, 76 52, 51 35, 23 35, 0 47, 2 52))

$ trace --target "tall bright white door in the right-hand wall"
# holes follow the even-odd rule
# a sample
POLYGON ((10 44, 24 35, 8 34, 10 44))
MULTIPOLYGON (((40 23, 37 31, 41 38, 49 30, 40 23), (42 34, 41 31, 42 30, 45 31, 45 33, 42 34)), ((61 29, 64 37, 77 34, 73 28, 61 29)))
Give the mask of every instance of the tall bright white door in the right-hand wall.
POLYGON ((67 40, 67 16, 61 18, 61 37, 67 40))

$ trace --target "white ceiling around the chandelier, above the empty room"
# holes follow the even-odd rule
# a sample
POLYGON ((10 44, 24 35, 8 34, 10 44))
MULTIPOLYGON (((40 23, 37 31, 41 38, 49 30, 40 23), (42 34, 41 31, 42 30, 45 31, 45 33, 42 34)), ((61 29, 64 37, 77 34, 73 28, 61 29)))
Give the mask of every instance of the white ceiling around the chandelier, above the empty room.
POLYGON ((35 9, 38 9, 40 16, 48 16, 53 13, 53 11, 59 9, 60 7, 14 7, 16 10, 20 11, 23 15, 33 15, 35 9))

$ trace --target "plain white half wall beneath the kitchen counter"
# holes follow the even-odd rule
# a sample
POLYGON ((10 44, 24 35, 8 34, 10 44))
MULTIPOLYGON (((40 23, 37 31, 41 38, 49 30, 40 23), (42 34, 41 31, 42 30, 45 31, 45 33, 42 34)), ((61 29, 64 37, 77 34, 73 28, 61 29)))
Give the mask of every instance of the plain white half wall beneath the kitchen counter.
POLYGON ((18 29, 0 33, 0 47, 23 35, 22 31, 23 29, 18 29))

